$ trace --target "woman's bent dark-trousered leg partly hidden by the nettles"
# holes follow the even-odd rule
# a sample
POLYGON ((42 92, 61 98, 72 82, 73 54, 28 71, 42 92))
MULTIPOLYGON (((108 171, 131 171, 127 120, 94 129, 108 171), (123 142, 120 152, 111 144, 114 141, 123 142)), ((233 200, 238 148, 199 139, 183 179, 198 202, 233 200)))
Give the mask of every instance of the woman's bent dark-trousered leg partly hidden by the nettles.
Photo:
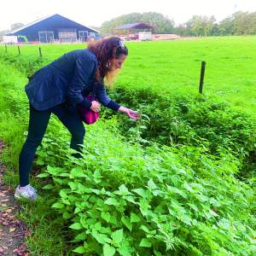
MULTIPOLYGON (((65 104, 61 104, 52 109, 52 112, 61 120, 61 123, 67 127, 71 133, 70 148, 82 152, 79 144, 84 144, 85 129, 79 112, 76 109, 68 111, 65 104)), ((74 157, 80 158, 81 154, 73 154, 74 157)))

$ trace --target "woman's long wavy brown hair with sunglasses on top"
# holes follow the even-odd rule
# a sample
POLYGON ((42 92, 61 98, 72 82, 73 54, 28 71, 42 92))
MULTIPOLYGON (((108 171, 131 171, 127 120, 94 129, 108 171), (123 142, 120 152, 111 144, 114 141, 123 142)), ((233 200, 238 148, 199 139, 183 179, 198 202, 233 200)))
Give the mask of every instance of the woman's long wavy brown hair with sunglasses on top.
POLYGON ((118 37, 92 41, 88 44, 88 49, 96 55, 99 61, 96 79, 105 79, 107 84, 111 86, 118 73, 117 69, 113 67, 111 60, 113 58, 118 59, 120 55, 128 55, 128 49, 118 37))

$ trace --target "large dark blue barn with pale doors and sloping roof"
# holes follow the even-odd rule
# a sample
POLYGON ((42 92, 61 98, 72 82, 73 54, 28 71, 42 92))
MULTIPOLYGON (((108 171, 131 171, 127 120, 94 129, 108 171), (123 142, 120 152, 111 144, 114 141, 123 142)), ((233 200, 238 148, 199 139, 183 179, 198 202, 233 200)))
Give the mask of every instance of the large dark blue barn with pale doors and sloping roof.
POLYGON ((21 26, 9 36, 25 38, 30 42, 53 43, 87 41, 90 37, 95 37, 97 30, 89 26, 81 25, 73 20, 69 20, 61 15, 50 15, 43 19, 36 20, 26 26, 21 26))

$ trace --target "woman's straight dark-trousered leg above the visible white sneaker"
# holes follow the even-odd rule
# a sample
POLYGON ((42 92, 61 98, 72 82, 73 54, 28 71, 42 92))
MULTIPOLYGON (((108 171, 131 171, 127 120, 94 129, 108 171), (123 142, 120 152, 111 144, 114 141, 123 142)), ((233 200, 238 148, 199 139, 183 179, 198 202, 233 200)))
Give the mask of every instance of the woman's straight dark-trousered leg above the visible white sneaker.
POLYGON ((20 187, 24 187, 29 183, 32 161, 44 137, 50 113, 50 110, 38 111, 30 106, 28 134, 19 158, 20 187))

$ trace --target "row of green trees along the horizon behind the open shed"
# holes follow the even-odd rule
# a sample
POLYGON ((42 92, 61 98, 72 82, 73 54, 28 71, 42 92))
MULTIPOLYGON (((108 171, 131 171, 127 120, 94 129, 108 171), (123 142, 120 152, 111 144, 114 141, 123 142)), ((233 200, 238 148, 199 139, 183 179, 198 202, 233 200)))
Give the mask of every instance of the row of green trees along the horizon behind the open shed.
POLYGON ((238 11, 219 22, 213 15, 210 17, 194 15, 187 22, 178 25, 175 24, 174 20, 159 13, 132 13, 105 21, 97 29, 104 35, 112 34, 117 32, 117 27, 136 22, 144 22, 154 26, 154 33, 177 33, 184 37, 256 34, 256 12, 242 11, 238 11))

